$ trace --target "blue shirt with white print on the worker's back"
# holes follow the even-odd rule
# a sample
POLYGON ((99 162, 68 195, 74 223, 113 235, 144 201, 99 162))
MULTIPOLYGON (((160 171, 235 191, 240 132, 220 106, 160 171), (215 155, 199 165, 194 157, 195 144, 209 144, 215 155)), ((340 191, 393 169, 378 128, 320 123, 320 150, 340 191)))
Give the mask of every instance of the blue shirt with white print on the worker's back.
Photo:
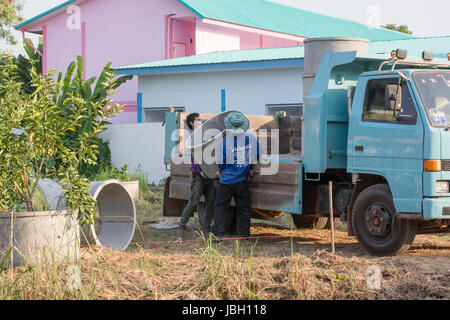
POLYGON ((228 135, 219 144, 217 164, 222 170, 220 183, 235 184, 247 175, 262 155, 258 139, 252 133, 228 135))

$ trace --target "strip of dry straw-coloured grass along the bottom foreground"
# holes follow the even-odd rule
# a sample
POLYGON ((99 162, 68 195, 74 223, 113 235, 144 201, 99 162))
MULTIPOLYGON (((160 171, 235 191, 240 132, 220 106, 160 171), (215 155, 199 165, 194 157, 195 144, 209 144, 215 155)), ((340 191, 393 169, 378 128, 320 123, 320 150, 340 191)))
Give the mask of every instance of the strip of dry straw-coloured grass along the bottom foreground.
MULTIPOLYGON (((251 250, 251 249, 250 249, 251 250)), ((238 250, 239 251, 239 250, 238 250)), ((0 299, 367 299, 364 265, 325 251, 283 259, 220 254, 214 245, 192 254, 145 249, 84 248, 82 285, 70 290, 68 265, 17 268, 0 275, 0 299)))

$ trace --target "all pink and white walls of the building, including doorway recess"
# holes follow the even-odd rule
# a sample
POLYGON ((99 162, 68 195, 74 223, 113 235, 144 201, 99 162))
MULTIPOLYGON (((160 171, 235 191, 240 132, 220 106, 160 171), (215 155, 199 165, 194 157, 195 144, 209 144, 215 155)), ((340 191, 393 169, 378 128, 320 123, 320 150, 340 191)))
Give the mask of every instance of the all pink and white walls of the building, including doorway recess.
MULTIPOLYGON (((86 0, 79 8, 80 28, 69 29, 67 21, 72 12, 63 12, 30 29, 43 31, 44 72, 52 68, 65 72, 81 55, 85 76, 98 76, 109 61, 118 67, 171 58, 172 43, 184 44, 186 55, 299 45, 292 40, 203 23, 177 0, 86 0)), ((114 99, 126 104, 125 112, 112 122, 135 123, 137 77, 119 90, 114 99)))

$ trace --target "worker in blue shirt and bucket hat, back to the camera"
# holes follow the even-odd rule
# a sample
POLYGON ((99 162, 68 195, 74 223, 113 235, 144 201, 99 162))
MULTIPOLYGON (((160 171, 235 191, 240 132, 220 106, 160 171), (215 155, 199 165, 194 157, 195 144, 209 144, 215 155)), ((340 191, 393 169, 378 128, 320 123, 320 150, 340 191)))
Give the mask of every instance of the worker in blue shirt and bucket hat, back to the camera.
POLYGON ((214 236, 220 240, 225 234, 225 220, 231 198, 236 204, 238 233, 250 237, 251 199, 250 181, 253 164, 262 155, 258 139, 248 132, 249 121, 241 113, 231 113, 225 119, 227 134, 220 142, 217 163, 220 183, 216 194, 214 236))

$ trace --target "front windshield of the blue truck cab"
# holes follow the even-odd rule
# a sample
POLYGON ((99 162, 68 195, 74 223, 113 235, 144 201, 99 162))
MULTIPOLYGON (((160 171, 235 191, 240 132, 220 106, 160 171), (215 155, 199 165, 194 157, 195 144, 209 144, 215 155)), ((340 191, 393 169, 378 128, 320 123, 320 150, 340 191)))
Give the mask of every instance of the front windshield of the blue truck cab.
POLYGON ((433 127, 450 126, 450 72, 416 72, 414 82, 433 127))

